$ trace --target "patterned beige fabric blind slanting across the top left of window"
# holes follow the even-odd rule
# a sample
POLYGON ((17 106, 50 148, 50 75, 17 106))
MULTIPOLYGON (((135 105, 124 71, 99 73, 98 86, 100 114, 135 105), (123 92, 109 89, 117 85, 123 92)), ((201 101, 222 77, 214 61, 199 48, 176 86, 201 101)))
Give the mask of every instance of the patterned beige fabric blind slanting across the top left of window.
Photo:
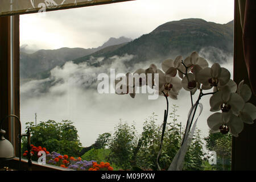
POLYGON ((102 5, 133 0, 0 0, 0 16, 37 13, 72 7, 102 5))

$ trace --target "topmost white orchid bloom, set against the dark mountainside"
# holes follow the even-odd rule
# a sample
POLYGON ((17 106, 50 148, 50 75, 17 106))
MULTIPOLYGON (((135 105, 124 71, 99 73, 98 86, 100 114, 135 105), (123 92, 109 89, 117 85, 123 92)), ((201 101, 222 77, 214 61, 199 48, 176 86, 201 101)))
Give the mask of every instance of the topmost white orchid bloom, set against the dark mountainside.
POLYGON ((193 67, 198 65, 200 68, 207 68, 209 66, 207 60, 204 57, 200 57, 196 51, 192 52, 190 56, 188 56, 183 63, 188 68, 188 72, 191 71, 193 73, 193 67))

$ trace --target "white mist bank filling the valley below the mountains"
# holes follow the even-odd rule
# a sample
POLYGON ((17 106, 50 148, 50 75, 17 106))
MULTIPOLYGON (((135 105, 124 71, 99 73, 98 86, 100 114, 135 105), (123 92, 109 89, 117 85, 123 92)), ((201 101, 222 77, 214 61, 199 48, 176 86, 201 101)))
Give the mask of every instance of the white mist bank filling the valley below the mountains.
MULTIPOLYGON (((202 50, 201 54, 207 56, 202 50)), ((21 85, 20 88, 20 115, 24 131, 26 122, 47 121, 53 119, 57 122, 69 119, 76 126, 82 146, 94 143, 99 134, 114 131, 119 119, 131 123, 135 121, 138 133, 141 133, 144 119, 152 113, 158 114, 158 123, 162 123, 166 101, 164 97, 158 100, 148 100, 147 94, 137 94, 135 98, 129 95, 99 94, 97 92, 97 76, 100 73, 110 73, 110 68, 115 68, 115 73, 133 73, 138 68, 147 68, 151 63, 160 67, 158 60, 137 63, 127 68, 125 63, 133 59, 133 55, 113 56, 110 64, 101 67, 89 66, 88 63, 75 64, 68 61, 63 67, 51 70, 51 76, 44 80, 32 80, 21 85)), ((172 57, 175 59, 175 57, 172 57)), ((232 72, 233 57, 225 56, 227 60, 222 67, 232 72)), ((89 61, 102 61, 103 58, 91 57, 89 61)), ((212 64, 209 61, 210 64, 212 64)), ((233 73, 233 72, 232 72, 233 73)), ((202 136, 208 135, 207 118, 209 117, 209 98, 205 96, 201 101, 204 105, 203 114, 200 116, 197 127, 202 130, 202 136)), ((196 96, 195 98, 196 99, 196 96)), ((191 107, 190 95, 181 90, 178 100, 169 99, 170 112, 172 104, 179 106, 178 122, 183 126, 187 122, 187 114, 191 107)), ((168 120, 171 122, 171 118, 168 120)))

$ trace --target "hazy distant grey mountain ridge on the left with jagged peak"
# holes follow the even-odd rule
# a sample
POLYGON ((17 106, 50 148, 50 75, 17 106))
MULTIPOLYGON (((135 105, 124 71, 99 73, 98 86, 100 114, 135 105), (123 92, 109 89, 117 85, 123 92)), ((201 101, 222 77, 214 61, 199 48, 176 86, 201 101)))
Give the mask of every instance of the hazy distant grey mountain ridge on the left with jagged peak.
MULTIPOLYGON (((115 46, 130 42, 132 39, 121 36, 120 38, 110 38, 102 46, 97 48, 67 48, 44 50, 41 49, 34 53, 29 53, 25 48, 27 45, 20 47, 20 78, 22 81, 31 78, 44 78, 48 76, 51 69, 61 66, 65 62, 77 59, 82 56, 90 55, 93 52, 100 51, 106 47, 115 46)), ((110 51, 110 49, 106 49, 110 51)))

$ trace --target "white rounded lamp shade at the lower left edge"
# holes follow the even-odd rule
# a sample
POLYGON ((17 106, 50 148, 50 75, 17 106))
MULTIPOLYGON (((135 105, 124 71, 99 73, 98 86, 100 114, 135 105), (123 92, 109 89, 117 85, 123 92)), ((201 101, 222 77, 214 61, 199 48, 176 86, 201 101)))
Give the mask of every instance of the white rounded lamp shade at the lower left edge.
POLYGON ((3 137, 5 130, 0 131, 0 160, 8 160, 14 158, 13 144, 3 137))

